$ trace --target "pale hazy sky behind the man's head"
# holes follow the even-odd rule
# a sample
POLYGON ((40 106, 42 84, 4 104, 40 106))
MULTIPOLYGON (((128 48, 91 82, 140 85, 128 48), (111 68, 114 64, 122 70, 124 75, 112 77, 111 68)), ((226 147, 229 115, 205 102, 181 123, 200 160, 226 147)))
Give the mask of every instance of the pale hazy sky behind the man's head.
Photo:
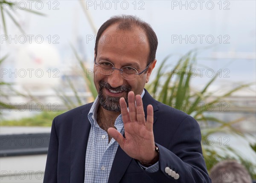
MULTIPOLYGON (((12 2, 15 2, 16 6, 12 6, 8 11, 20 23, 25 33, 23 34, 7 17, 7 37, 13 39, 6 40, 1 22, 0 56, 2 58, 9 53, 10 56, 3 64, 3 68, 8 72, 9 69, 32 68, 30 62, 33 62, 33 59, 26 61, 21 59, 26 58, 26 51, 29 50, 33 54, 44 54, 41 60, 45 61, 45 75, 47 68, 50 68, 51 71, 58 69, 58 75, 61 76, 65 70, 77 65, 70 45, 74 45, 92 68, 96 33, 89 23, 88 14, 96 30, 113 15, 132 14, 149 23, 157 34, 156 67, 169 54, 173 56, 167 63, 172 67, 180 55, 196 48, 199 51, 195 70, 198 71, 198 75, 200 69, 205 70, 202 77, 193 80, 192 84, 195 87, 203 86, 211 78, 207 69, 221 73, 216 85, 256 80, 256 1, 254 0, 12 2), (23 11, 24 6, 45 16, 23 11), (77 41, 78 38, 80 42, 77 41), (49 51, 52 53, 50 54, 49 51), (55 59, 46 58, 45 55, 55 59)), ((25 80, 19 76, 10 77, 8 73, 2 76, 1 78, 12 82, 29 83, 33 80, 33 76, 26 77, 25 80)), ((43 82, 38 77, 34 77, 34 81, 43 82)), ((53 83, 57 82, 58 79, 55 79, 53 83)))

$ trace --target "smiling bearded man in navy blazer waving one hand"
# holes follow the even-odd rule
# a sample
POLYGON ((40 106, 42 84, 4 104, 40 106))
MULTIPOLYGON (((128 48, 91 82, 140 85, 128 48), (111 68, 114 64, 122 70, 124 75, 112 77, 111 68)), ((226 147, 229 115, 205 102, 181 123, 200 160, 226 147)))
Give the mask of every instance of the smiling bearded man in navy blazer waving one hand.
POLYGON ((99 28, 99 95, 53 120, 45 183, 210 182, 198 123, 144 89, 156 50, 156 34, 137 17, 112 17, 99 28))

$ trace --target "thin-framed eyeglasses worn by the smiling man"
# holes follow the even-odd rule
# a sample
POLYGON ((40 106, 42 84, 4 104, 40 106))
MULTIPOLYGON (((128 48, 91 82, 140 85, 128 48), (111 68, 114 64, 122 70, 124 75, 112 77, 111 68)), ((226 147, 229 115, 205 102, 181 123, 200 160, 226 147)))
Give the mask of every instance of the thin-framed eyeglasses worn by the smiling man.
POLYGON ((148 63, 147 67, 140 73, 135 68, 132 68, 129 66, 125 66, 125 67, 122 67, 121 69, 117 69, 114 67, 114 65, 111 62, 108 62, 105 60, 102 60, 96 63, 96 60, 94 59, 94 63, 96 65, 99 65, 99 67, 102 68, 100 70, 100 73, 102 73, 105 76, 110 76, 113 73, 113 70, 119 70, 123 79, 134 80, 137 75, 144 73, 148 69, 148 66, 150 65, 151 62, 148 63))

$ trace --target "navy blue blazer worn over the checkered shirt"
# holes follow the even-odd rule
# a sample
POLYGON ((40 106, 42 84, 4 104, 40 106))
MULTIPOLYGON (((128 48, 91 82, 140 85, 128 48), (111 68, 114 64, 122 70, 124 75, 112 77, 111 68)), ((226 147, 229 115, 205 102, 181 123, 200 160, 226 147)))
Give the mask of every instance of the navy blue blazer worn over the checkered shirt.
MULTIPOLYGON (((159 170, 148 173, 118 147, 108 183, 211 183, 201 149, 201 131, 194 118, 153 99, 145 90, 143 107, 154 109, 154 140, 159 170), (180 177, 165 172, 169 167, 180 177)), ((92 103, 58 115, 52 122, 44 183, 83 183, 92 103)))

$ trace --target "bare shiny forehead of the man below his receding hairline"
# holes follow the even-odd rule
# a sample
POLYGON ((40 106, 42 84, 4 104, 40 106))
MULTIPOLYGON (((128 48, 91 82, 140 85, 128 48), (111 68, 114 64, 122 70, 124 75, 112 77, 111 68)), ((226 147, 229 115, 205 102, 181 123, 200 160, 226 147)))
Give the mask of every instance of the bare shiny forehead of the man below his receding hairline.
POLYGON ((109 26, 98 42, 97 57, 109 57, 111 60, 134 60, 147 63, 149 43, 145 32, 138 26, 122 30, 118 24, 109 26))

